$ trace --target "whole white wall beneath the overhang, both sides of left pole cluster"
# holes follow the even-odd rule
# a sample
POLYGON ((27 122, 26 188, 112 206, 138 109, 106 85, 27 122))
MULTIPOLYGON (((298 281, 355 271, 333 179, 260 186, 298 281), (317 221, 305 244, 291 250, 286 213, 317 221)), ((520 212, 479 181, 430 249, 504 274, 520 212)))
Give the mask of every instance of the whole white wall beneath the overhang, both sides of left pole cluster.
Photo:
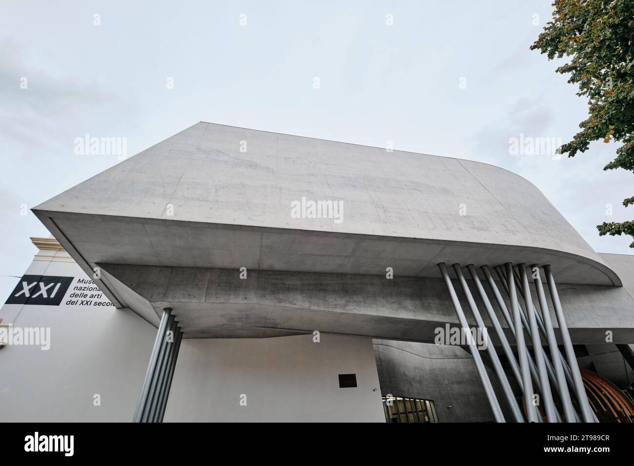
MULTIPOLYGON (((0 422, 131 421, 156 328, 94 305, 107 302, 99 292, 88 292, 90 305, 67 304, 87 276, 66 252, 39 251, 24 275, 74 279, 59 306, 0 309, 0 326, 51 332, 48 350, 0 349, 0 422)), ((320 337, 183 340, 165 421, 385 422, 372 340, 320 337), (340 388, 340 373, 356 373, 358 387, 340 388)))

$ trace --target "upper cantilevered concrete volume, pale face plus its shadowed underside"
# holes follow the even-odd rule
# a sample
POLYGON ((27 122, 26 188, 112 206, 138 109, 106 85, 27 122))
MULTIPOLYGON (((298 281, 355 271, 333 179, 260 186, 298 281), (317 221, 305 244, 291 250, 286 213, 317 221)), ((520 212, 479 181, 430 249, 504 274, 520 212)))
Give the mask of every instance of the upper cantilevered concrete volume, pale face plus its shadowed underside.
POLYGON ((533 184, 506 170, 205 122, 34 212, 91 269, 384 275, 391 266, 438 276, 441 261, 513 261, 550 263, 560 282, 621 284, 533 184), (343 221, 293 218, 302 197, 342 202, 343 221))

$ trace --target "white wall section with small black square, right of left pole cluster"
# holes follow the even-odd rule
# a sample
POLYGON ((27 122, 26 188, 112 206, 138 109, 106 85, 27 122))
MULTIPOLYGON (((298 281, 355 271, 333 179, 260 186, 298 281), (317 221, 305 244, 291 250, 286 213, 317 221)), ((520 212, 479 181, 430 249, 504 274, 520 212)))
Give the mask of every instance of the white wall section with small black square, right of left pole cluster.
POLYGON ((164 420, 385 422, 372 339, 183 340, 164 420), (340 388, 342 373, 358 386, 340 388))

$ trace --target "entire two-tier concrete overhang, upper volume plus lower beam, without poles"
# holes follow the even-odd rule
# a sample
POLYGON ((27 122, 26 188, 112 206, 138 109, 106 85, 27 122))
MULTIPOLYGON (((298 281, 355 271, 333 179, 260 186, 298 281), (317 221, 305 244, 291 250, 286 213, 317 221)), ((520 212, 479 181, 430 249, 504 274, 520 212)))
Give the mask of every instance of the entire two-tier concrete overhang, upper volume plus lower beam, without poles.
POLYGON ((427 340, 455 320, 438 262, 551 264, 586 327, 632 327, 619 277, 542 193, 478 162, 200 122, 33 210, 115 306, 154 324, 173 307, 186 337, 427 340), (302 198, 339 202, 341 221, 295 218, 302 198), (371 275, 411 286, 378 305, 371 275), (587 285, 614 292, 598 306, 587 285))

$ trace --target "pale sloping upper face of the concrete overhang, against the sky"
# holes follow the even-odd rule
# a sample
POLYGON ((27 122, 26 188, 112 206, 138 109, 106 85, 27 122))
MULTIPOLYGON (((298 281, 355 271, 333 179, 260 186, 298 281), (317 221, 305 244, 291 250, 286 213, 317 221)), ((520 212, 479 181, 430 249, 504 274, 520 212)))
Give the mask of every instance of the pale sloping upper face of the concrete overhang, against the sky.
POLYGON ((171 221, 541 247, 601 260, 534 184, 495 165, 404 151, 386 157, 382 148, 207 122, 35 210, 149 221, 166 219, 168 203, 176 206, 171 221), (346 221, 291 216, 289 202, 302 196, 345 202, 346 221), (458 215, 462 202, 468 216, 458 215))

